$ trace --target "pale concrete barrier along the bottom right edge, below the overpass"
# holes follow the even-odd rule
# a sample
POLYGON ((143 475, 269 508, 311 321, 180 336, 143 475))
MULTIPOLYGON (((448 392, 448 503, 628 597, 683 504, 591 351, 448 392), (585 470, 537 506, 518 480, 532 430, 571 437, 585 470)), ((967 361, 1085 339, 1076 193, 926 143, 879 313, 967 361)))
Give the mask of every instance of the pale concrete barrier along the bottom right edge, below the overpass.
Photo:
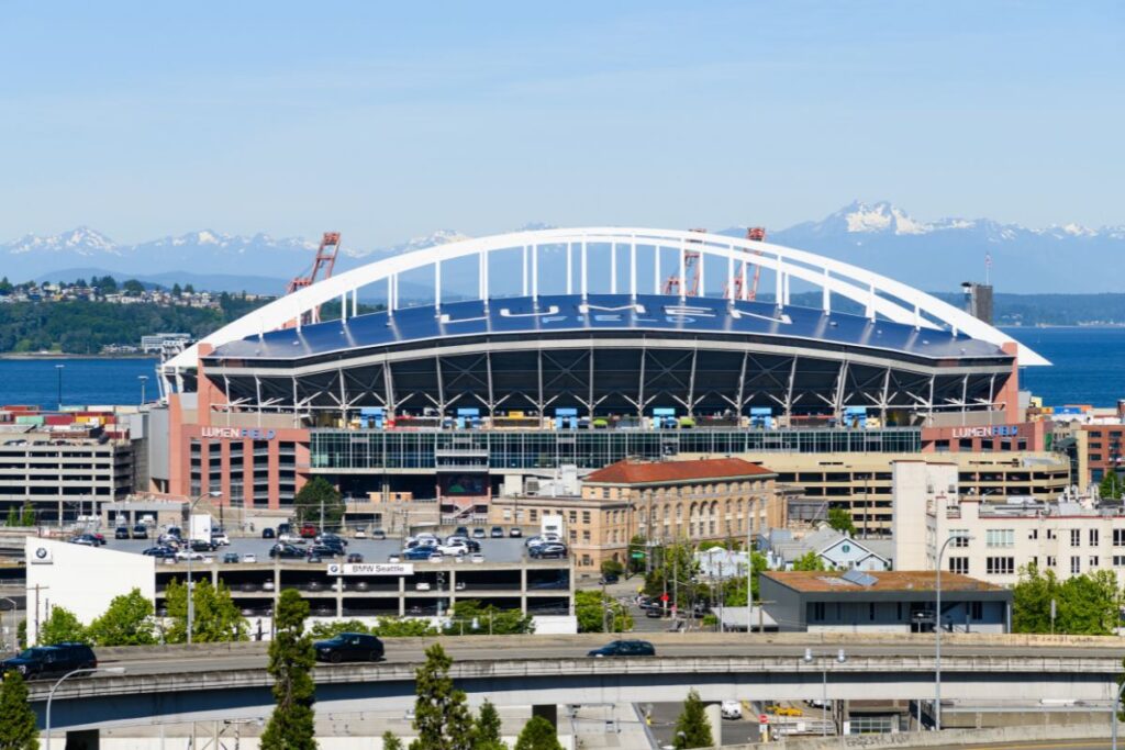
MULTIPOLYGON (((1120 725, 1119 725, 1120 726, 1120 725)), ((1125 737, 1125 728, 1118 730, 1125 737)), ((961 744, 994 744, 1015 742, 1053 742, 1065 740, 1104 740, 1109 737, 1109 722, 1068 724, 1063 726, 1004 726, 998 729, 954 729, 942 732, 898 732, 896 734, 849 734, 840 743, 835 738, 784 738, 767 743, 735 744, 712 750, 839 750, 840 747, 878 750, 879 748, 932 748, 961 744)))

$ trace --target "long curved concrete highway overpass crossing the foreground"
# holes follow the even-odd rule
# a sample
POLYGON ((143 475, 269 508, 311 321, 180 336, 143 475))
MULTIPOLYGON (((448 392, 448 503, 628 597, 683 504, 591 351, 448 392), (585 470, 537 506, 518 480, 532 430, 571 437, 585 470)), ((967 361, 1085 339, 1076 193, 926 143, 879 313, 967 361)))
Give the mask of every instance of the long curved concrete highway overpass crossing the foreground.
MULTIPOLYGON (((388 640, 378 663, 316 669, 321 711, 405 710, 414 670, 435 639, 388 640)), ((682 701, 921 698, 934 692, 930 635, 654 634, 657 656, 592 659, 604 635, 440 639, 458 686, 477 704, 555 706, 682 701), (804 660, 806 649, 816 658, 804 660), (844 649, 846 660, 836 659, 844 649)), ((961 635, 943 639, 946 701, 1083 701, 1108 707, 1125 654, 1123 639, 961 635)), ((82 730, 266 716, 272 708, 266 644, 105 650, 124 675, 72 678, 55 693, 53 725, 82 730)), ((48 683, 33 684, 43 713, 48 683)))

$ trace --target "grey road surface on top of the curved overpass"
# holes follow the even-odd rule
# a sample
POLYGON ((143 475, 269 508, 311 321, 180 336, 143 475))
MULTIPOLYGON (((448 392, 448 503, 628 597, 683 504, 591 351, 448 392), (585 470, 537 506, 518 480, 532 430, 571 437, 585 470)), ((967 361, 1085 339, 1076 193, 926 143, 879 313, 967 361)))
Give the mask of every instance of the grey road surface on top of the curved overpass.
MULTIPOLYGON (((642 635, 644 638, 644 635, 642 635)), ((649 636, 656 643, 658 656, 666 657, 763 657, 793 659, 794 665, 802 663, 806 645, 802 641, 775 642, 775 639, 760 635, 735 634, 674 634, 662 633, 649 636)), ((424 660, 424 651, 438 639, 388 639, 387 663, 411 663, 424 660)), ((584 658, 586 652, 612 640, 605 635, 507 635, 497 638, 442 638, 446 651, 454 660, 495 660, 498 657, 511 660, 524 659, 575 659, 584 658), (502 649, 502 651, 498 651, 502 649)), ((809 645, 824 648, 819 639, 810 639, 809 645)), ((896 643, 896 642, 860 642, 842 644, 849 660, 863 657, 918 657, 929 659, 934 654, 932 642, 896 643)), ((834 647, 835 648, 835 647, 834 647)), ((159 675, 182 671, 223 671, 233 669, 258 669, 266 666, 264 650, 248 644, 250 652, 219 653, 213 656, 194 656, 182 652, 145 653, 137 649, 137 654, 129 653, 115 658, 102 656, 102 663, 125 667, 133 675, 159 675)), ((1104 658, 1118 657, 1119 645, 1076 645, 1076 647, 1027 647, 1027 645, 969 645, 944 644, 942 652, 946 658, 958 656, 988 656, 1015 658, 1104 658)), ((842 668, 848 667, 845 663, 842 668)), ((321 669, 340 667, 324 665, 321 669)))

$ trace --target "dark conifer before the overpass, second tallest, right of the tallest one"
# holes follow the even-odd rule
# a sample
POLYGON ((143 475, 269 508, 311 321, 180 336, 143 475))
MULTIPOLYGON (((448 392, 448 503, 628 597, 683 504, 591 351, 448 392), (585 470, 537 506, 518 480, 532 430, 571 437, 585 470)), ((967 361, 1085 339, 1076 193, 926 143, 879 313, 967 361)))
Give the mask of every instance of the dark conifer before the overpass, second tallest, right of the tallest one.
POLYGON ((425 651, 425 663, 415 671, 414 730, 411 750, 471 750, 472 715, 465 693, 453 687, 449 658, 440 643, 425 651))

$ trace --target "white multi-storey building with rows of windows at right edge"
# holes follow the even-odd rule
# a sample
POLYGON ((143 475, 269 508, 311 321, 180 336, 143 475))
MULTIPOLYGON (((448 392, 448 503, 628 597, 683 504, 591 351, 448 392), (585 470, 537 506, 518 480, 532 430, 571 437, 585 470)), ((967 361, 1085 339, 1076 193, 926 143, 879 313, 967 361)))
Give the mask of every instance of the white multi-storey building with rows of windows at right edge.
POLYGON ((1092 500, 986 501, 958 497, 956 464, 898 461, 894 487, 894 567, 934 570, 950 536, 943 569, 1012 586, 1028 564, 1060 580, 1113 570, 1125 584, 1125 513, 1092 500))

